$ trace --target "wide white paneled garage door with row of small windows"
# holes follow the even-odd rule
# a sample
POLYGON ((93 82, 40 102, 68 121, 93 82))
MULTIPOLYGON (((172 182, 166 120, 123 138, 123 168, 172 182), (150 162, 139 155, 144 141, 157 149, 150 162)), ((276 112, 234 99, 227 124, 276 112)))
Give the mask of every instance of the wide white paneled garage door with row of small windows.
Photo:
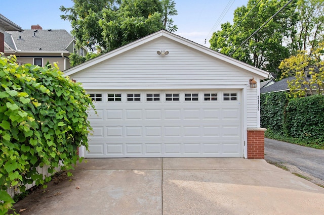
POLYGON ((88 91, 86 157, 240 157, 237 91, 88 91))

